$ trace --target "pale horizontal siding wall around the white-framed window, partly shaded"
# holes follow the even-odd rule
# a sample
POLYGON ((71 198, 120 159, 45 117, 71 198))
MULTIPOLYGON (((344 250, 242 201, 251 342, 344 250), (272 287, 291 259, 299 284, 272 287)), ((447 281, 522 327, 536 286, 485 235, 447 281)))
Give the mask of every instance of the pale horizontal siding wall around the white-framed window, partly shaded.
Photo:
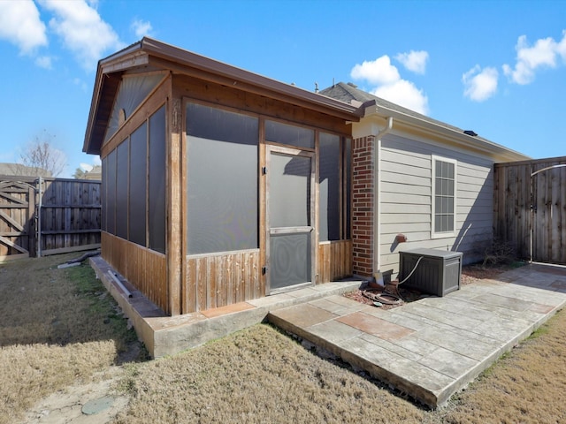
POLYGON ((399 252, 418 247, 483 259, 492 241, 493 162, 422 140, 387 134, 381 141, 380 270, 399 271, 399 252), (455 236, 432 239, 432 155, 457 161, 455 236), (402 233, 406 243, 397 244, 402 233))

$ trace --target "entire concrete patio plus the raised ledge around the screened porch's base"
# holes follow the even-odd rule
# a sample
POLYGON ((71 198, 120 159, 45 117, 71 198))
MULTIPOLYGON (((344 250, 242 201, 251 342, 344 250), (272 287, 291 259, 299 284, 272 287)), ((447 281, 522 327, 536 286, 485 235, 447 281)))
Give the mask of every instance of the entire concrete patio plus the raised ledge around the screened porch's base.
POLYGON ((167 316, 119 276, 132 293, 126 296, 102 258, 90 263, 154 358, 267 318, 432 407, 445 404, 566 305, 566 268, 530 264, 389 310, 342 296, 362 283, 350 280, 167 316))

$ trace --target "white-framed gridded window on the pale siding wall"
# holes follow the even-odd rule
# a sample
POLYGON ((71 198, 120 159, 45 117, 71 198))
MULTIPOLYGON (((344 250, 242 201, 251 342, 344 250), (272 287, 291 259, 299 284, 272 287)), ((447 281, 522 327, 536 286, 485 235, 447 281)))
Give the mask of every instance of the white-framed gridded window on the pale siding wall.
POLYGON ((432 239, 455 236, 456 168, 454 159, 432 155, 432 239))

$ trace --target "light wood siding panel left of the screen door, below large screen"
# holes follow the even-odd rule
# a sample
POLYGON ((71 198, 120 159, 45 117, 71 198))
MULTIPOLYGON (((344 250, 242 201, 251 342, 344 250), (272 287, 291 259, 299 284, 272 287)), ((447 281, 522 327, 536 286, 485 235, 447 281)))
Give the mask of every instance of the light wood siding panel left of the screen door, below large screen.
POLYGON ((187 256, 183 305, 187 313, 261 297, 259 250, 187 256))

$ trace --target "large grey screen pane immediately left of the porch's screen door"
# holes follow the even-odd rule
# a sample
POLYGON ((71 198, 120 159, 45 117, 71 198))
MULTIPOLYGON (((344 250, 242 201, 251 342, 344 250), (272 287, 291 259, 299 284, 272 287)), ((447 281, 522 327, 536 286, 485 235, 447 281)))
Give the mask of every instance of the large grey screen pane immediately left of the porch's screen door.
POLYGON ((256 248, 257 118, 190 103, 186 118, 188 253, 256 248))

